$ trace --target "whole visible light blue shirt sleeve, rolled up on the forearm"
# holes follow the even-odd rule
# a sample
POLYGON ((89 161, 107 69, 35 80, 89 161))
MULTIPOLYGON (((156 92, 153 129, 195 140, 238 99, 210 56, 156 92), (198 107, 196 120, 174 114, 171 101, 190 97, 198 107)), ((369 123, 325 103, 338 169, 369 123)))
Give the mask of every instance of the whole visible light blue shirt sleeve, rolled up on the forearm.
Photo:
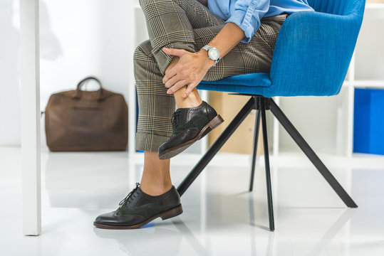
POLYGON ((238 0, 234 12, 225 23, 235 23, 245 33, 242 43, 249 43, 260 27, 260 20, 269 10, 270 0, 238 0))

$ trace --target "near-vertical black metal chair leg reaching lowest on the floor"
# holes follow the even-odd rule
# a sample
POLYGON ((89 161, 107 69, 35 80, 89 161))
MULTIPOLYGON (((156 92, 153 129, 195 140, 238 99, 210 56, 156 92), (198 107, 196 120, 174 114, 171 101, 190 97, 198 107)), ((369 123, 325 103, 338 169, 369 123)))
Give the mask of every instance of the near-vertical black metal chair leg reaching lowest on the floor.
POLYGON ((261 111, 261 125, 263 127, 263 144, 264 144, 264 161, 265 161, 265 176, 266 176, 266 194, 268 198, 268 216, 269 216, 269 230, 275 230, 274 224, 274 205, 272 203, 272 188, 271 188, 271 171, 269 169, 269 150, 268 150, 268 137, 266 134, 266 102, 267 99, 260 99, 261 111))

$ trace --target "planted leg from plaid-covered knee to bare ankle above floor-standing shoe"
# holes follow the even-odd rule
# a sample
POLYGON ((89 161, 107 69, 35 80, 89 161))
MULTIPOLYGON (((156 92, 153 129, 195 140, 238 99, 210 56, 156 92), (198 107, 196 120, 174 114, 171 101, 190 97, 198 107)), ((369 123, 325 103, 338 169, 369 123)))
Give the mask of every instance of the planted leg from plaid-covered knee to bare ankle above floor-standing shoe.
POLYGON ((170 160, 160 160, 157 149, 172 133, 171 116, 175 111, 175 99, 167 95, 162 73, 151 50, 150 41, 145 41, 137 46, 134 55, 139 105, 136 149, 145 151, 140 188, 151 196, 157 196, 172 186, 170 160))

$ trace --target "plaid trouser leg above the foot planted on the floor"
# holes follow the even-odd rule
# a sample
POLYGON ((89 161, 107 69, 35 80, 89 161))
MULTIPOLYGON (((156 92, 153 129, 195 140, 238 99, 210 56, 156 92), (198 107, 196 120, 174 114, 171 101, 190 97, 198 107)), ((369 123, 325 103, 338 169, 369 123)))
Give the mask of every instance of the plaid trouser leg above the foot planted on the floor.
POLYGON ((137 121, 136 150, 157 151, 172 134, 171 117, 175 98, 167 95, 162 73, 151 53, 150 41, 135 50, 135 80, 139 119, 137 121))

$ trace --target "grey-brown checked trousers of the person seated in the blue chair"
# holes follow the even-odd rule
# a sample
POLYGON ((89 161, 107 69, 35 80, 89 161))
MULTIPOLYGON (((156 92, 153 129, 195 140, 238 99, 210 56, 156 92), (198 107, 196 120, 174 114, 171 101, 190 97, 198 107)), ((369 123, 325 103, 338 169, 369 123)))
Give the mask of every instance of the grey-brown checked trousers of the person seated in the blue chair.
MULTIPOLYGON (((224 26, 224 20, 212 14, 197 0, 140 0, 150 40, 137 46, 134 54, 135 82, 139 117, 136 150, 157 151, 172 134, 171 117, 175 112, 173 95, 167 95, 162 83, 172 56, 163 47, 197 52, 224 26)), ((249 43, 239 43, 204 80, 213 81, 232 75, 269 73, 277 35, 288 14, 261 18, 261 26, 249 43)))

